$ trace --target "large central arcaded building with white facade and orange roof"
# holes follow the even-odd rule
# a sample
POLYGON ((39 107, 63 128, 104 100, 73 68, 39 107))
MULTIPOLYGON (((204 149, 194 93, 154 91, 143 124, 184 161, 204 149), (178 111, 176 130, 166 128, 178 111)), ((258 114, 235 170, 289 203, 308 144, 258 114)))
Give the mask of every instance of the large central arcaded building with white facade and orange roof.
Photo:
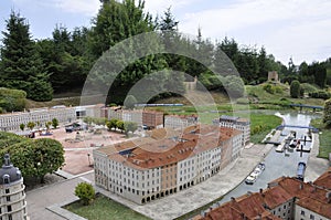
POLYGON ((95 182, 142 205, 206 180, 236 159, 242 148, 241 132, 232 128, 153 129, 150 137, 95 149, 95 182))

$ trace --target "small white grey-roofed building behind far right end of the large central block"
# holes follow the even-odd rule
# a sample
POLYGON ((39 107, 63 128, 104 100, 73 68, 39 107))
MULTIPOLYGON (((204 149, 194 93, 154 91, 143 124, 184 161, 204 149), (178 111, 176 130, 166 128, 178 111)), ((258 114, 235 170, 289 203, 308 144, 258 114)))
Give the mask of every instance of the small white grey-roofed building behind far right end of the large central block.
POLYGON ((243 146, 250 142, 250 122, 247 118, 222 115, 220 118, 213 121, 213 125, 221 127, 231 127, 242 132, 243 146))

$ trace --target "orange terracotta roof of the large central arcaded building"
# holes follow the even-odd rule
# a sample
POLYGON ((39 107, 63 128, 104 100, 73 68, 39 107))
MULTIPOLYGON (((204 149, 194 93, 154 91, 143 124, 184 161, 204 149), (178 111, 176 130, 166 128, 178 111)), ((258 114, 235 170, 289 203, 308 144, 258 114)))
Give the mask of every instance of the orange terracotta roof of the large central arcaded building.
POLYGON ((131 164, 136 168, 150 169, 175 164, 201 151, 222 146, 222 142, 241 134, 238 130, 218 126, 193 126, 192 129, 188 129, 190 134, 184 132, 183 137, 188 138, 185 142, 181 142, 180 138, 161 138, 164 135, 173 137, 174 133, 170 130, 156 129, 154 138, 138 138, 103 147, 97 151, 106 154, 109 159, 126 161, 127 166, 131 164), (117 151, 114 151, 114 148, 117 151))

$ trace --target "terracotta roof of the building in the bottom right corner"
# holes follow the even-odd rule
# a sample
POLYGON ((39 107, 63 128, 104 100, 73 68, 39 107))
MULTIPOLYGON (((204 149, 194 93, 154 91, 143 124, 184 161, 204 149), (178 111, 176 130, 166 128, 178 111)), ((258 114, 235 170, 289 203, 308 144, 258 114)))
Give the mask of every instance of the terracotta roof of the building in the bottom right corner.
MULTIPOLYGON (((323 179, 324 177, 325 174, 320 178, 323 179)), ((196 216, 193 219, 231 220, 244 219, 245 217, 248 220, 278 220, 280 218, 270 213, 269 209, 275 209, 291 199, 296 199, 298 206, 331 219, 331 202, 330 199, 328 201, 328 193, 331 192, 312 184, 302 182, 295 178, 281 177, 270 182, 269 187, 265 190, 260 190, 260 192, 249 192, 236 199, 232 199, 221 207, 203 214, 204 217, 196 216)))

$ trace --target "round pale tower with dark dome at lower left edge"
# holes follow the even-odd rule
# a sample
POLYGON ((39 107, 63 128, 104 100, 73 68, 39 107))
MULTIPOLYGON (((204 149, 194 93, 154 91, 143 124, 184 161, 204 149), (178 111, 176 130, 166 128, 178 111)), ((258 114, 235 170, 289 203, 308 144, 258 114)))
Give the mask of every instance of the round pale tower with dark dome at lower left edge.
POLYGON ((0 219, 25 220, 28 218, 23 177, 19 168, 4 155, 4 164, 0 169, 0 219))

